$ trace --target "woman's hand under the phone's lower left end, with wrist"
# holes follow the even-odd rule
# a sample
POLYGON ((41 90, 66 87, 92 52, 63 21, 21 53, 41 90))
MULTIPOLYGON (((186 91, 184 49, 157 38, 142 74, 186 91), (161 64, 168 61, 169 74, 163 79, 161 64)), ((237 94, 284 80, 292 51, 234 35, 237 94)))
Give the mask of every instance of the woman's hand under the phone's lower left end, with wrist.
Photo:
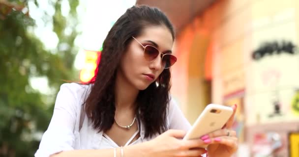
POLYGON ((203 140, 181 140, 185 131, 168 130, 149 142, 147 157, 200 157, 206 152, 203 140))

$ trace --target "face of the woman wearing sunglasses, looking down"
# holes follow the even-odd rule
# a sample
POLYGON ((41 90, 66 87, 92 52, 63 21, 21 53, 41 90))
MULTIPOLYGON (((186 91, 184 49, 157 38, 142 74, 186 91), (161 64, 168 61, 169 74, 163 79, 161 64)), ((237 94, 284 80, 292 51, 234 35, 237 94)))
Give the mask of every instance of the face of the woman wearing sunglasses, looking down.
MULTIPOLYGON (((165 26, 148 26, 140 36, 135 37, 143 46, 154 46, 162 53, 171 53, 173 38, 165 26)), ((144 48, 132 38, 120 62, 120 75, 138 90, 146 89, 164 70, 161 65, 161 55, 147 61, 144 48)))

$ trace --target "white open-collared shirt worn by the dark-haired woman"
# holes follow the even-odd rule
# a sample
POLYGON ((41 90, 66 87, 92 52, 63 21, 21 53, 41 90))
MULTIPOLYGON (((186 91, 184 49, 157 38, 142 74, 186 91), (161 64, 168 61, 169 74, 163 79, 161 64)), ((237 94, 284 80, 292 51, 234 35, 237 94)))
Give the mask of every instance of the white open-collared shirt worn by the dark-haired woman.
MULTIPOLYGON (((102 131, 98 132, 92 128, 92 124, 85 113, 83 125, 79 131, 81 107, 89 91, 90 85, 77 83, 64 83, 61 85, 50 125, 42 136, 39 149, 34 155, 35 157, 49 157, 55 153, 67 150, 118 147, 109 136, 103 134, 102 131)), ((188 131, 191 128, 189 122, 173 100, 170 101, 167 113, 168 129, 188 131)), ((156 134, 152 138, 145 138, 145 130, 142 123, 140 123, 140 128, 138 129, 140 130, 138 131, 140 132, 140 137, 131 144, 149 141, 158 136, 156 134)))

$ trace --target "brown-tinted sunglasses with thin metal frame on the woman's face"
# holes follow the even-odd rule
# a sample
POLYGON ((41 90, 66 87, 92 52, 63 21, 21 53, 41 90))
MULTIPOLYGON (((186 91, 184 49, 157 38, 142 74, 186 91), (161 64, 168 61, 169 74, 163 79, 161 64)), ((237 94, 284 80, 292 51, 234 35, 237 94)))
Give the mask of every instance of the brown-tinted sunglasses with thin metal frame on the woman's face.
MULTIPOLYGON (((132 38, 134 38, 132 36, 132 38)), ((160 52, 157 48, 151 46, 151 45, 146 45, 143 46, 136 38, 134 38, 143 48, 144 48, 144 58, 147 61, 153 61, 154 59, 159 56, 160 52)), ((168 69, 171 66, 173 66, 177 61, 177 57, 169 54, 169 53, 161 53, 161 65, 164 69, 168 69)))

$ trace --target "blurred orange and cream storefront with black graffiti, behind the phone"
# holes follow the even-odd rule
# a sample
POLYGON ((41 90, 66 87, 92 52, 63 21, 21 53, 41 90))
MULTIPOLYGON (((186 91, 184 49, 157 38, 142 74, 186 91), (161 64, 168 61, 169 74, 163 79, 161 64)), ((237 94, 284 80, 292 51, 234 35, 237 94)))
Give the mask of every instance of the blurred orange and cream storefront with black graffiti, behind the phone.
POLYGON ((248 153, 286 157, 299 131, 298 45, 298 0, 216 0, 179 28, 172 95, 191 123, 210 102, 238 104, 248 153))

